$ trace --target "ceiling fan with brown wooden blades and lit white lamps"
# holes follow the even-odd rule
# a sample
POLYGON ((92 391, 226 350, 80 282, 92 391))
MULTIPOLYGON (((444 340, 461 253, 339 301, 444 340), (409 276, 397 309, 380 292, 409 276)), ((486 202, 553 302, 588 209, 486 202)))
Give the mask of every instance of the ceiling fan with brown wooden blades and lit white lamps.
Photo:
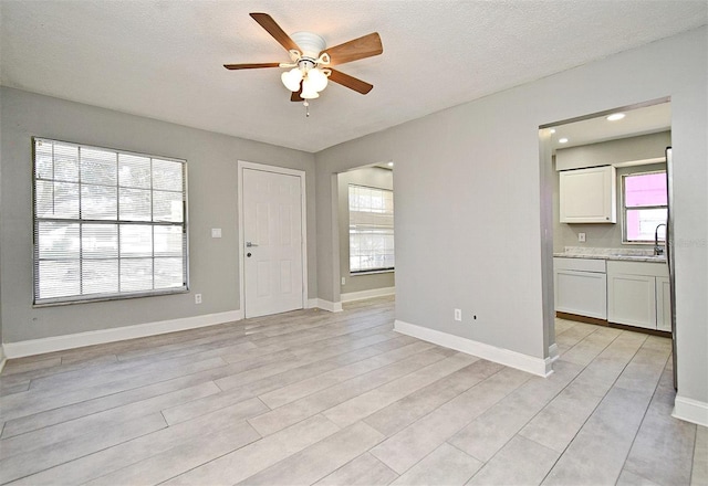
POLYGON ((292 92, 291 102, 304 102, 320 96, 327 81, 346 86, 365 95, 374 87, 362 80, 334 70, 332 66, 378 55, 384 52, 377 32, 326 49, 324 39, 312 32, 288 35, 268 13, 250 13, 266 31, 285 47, 289 63, 225 64, 227 70, 253 70, 260 67, 291 67, 282 73, 281 81, 292 92))

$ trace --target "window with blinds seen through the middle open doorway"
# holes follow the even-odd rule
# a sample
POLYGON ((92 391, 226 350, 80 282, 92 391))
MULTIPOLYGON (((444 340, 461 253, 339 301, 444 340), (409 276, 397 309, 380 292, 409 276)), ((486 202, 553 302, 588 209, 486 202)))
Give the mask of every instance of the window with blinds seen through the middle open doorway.
POLYGON ((393 191, 350 184, 350 273, 393 268, 393 191))

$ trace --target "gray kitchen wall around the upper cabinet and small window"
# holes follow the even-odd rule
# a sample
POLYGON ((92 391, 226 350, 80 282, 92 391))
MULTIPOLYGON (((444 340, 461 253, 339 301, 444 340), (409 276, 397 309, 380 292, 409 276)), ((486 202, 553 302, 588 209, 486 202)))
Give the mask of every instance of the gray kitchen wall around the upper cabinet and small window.
MULTIPOLYGON (((631 137, 622 140, 613 140, 604 144, 592 144, 580 147, 571 147, 558 150, 555 165, 564 162, 565 167, 571 167, 571 161, 575 160, 581 165, 575 167, 589 167, 583 160, 593 160, 600 163, 618 163, 632 160, 646 160, 650 158, 663 158, 666 147, 671 145, 670 133, 654 134, 642 137, 631 137), (574 150, 575 149, 575 150, 574 150), (570 150, 570 151, 569 151, 570 150), (577 157, 575 157, 577 155, 577 157), (563 156, 564 160, 561 160, 563 156), (584 165, 582 165, 584 163, 584 165)), ((606 247, 606 249, 646 249, 646 244, 622 243, 622 176, 635 172, 650 172, 655 170, 666 170, 666 163, 647 163, 633 167, 617 168, 617 222, 614 224, 566 224, 561 223, 560 218, 553 220, 554 224, 554 247, 555 252, 562 252, 565 246, 606 247), (585 233, 585 242, 577 241, 577 233, 585 233)), ((559 214, 560 183, 558 172, 553 175, 553 213, 559 214)))

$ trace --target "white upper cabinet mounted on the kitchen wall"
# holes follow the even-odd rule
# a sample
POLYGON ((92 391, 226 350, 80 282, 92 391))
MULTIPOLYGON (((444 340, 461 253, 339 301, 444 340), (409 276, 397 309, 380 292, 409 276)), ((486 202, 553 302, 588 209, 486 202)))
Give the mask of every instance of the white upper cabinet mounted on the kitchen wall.
POLYGON ((564 170, 560 173, 561 223, 616 223, 615 168, 564 170))

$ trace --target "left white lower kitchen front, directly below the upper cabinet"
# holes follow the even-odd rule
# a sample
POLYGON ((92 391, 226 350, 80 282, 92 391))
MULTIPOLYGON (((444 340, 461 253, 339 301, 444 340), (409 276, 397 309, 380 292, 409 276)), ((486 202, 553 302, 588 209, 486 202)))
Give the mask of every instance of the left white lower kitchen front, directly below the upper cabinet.
POLYGON ((606 319, 606 278, 604 260, 553 258, 555 310, 606 319))

